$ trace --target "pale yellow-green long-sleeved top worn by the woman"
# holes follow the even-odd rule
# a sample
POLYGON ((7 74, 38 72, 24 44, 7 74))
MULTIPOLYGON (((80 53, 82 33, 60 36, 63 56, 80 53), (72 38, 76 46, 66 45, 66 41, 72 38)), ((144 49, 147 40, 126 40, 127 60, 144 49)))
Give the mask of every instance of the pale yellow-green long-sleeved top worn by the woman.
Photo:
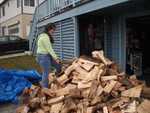
POLYGON ((46 33, 42 33, 38 36, 37 54, 50 54, 55 60, 58 58, 52 48, 49 36, 46 33))

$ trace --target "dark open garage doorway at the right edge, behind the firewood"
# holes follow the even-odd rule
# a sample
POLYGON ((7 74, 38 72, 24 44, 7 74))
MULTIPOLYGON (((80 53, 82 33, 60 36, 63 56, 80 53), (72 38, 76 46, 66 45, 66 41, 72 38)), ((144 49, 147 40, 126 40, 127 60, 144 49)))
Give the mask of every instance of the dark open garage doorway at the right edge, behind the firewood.
POLYGON ((150 79, 150 15, 126 20, 126 71, 150 79))

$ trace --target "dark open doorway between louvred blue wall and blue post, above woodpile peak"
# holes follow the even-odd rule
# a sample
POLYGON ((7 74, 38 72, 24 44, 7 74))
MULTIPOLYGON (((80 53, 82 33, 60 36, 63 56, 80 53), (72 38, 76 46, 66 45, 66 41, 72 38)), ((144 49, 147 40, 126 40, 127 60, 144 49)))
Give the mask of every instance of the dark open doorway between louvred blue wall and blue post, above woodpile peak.
POLYGON ((80 55, 104 48, 104 17, 92 12, 78 17, 80 55))

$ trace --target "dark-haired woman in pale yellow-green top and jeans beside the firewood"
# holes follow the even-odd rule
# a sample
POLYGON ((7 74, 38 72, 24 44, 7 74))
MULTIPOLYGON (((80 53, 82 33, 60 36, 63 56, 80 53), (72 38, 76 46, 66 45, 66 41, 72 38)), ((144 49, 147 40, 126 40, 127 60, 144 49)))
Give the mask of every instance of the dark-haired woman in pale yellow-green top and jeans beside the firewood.
POLYGON ((52 48, 54 43, 52 34, 55 31, 54 24, 48 24, 45 27, 45 32, 38 36, 37 41, 37 62, 42 68, 42 82, 43 87, 48 87, 48 75, 51 71, 51 66, 56 68, 56 74, 61 72, 60 60, 52 48))

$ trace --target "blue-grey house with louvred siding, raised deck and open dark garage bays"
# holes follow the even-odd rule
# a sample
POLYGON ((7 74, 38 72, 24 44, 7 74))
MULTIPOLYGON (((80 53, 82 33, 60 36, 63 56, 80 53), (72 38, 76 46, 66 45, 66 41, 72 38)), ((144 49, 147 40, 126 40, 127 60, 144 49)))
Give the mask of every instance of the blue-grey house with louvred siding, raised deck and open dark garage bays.
POLYGON ((45 0, 35 11, 31 50, 36 48, 37 35, 51 22, 57 26, 53 46, 61 59, 102 49, 122 70, 150 74, 149 0, 45 0))

